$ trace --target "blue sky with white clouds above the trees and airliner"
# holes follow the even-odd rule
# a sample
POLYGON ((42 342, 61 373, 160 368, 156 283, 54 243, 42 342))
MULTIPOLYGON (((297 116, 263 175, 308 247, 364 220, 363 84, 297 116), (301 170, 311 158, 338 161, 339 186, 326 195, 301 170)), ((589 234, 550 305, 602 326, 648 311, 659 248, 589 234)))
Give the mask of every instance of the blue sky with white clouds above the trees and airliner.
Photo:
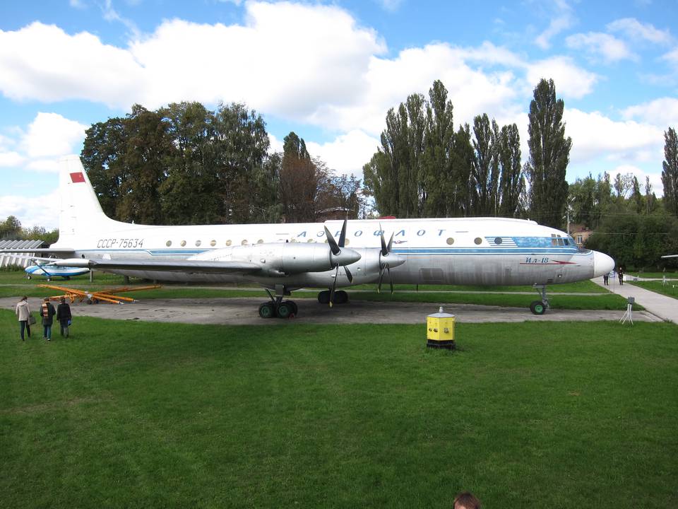
POLYGON ((662 195, 678 0, 3 0, 0 221, 56 228, 57 161, 135 103, 244 103, 273 151, 295 131, 362 178, 388 109, 436 79, 455 128, 515 122, 524 162, 541 78, 565 103, 569 182, 632 173, 662 195))

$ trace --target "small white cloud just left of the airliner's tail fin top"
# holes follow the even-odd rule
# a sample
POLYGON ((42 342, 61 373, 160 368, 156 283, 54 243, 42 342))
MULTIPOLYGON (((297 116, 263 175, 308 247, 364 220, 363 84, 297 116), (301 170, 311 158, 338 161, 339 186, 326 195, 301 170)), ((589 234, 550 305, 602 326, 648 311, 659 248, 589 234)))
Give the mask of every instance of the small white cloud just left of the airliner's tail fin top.
POLYGON ((57 113, 40 112, 28 126, 20 146, 34 159, 64 156, 73 153, 73 148, 83 141, 88 127, 57 113))

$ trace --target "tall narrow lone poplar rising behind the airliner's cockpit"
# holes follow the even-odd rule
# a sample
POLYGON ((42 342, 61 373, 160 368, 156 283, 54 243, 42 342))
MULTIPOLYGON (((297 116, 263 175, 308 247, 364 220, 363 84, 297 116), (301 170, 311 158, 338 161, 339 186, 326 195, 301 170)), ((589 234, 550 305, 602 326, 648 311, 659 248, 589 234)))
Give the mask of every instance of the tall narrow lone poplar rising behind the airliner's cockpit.
POLYGON ((565 104, 556 98, 552 79, 542 79, 530 103, 530 213, 539 223, 559 227, 567 202, 565 172, 572 139, 565 137, 562 122, 565 104))

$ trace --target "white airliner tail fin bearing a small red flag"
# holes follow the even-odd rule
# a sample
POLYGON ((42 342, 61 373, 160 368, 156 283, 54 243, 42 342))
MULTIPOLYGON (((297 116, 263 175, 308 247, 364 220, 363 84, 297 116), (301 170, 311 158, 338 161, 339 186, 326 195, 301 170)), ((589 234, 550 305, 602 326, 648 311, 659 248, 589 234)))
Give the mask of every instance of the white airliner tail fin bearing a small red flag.
POLYGON ((101 209, 90 179, 78 156, 59 160, 59 239, 95 232, 115 223, 101 209))

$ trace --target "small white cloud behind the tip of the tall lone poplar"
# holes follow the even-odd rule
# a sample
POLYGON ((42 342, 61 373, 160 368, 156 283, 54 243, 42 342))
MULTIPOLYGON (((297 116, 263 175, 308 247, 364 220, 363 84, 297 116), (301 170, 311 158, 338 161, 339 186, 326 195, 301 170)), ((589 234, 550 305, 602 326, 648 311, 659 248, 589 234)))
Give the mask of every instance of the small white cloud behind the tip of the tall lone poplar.
POLYGON ((600 79, 597 74, 574 64, 569 57, 552 57, 528 64, 527 78, 528 83, 531 83, 533 87, 542 78, 552 78, 556 83, 558 95, 575 99, 583 98, 584 95, 590 93, 600 79))

